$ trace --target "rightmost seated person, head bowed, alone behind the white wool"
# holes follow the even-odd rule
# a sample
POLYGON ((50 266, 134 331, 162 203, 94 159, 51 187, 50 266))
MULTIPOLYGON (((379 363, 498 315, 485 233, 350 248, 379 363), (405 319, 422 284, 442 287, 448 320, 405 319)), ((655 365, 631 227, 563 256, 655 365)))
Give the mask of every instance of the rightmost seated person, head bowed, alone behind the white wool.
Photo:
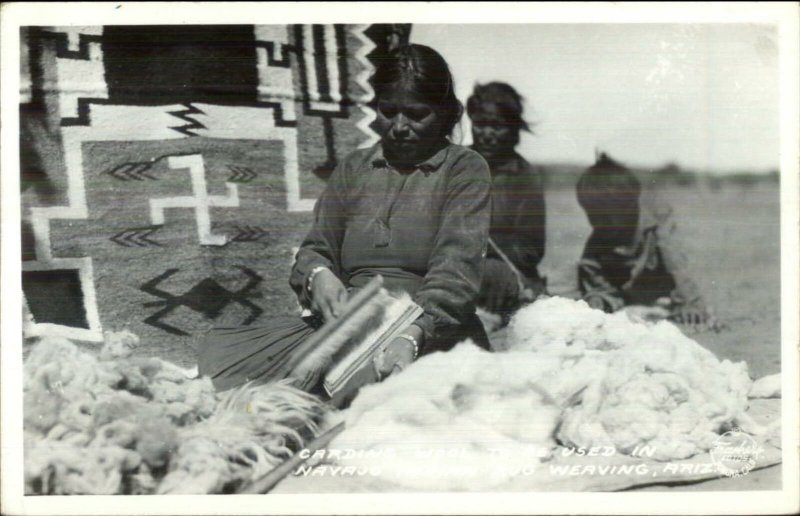
POLYGON ((675 238, 672 208, 606 154, 578 179, 578 202, 592 226, 578 265, 583 299, 606 312, 659 305, 691 326, 716 322, 675 238))

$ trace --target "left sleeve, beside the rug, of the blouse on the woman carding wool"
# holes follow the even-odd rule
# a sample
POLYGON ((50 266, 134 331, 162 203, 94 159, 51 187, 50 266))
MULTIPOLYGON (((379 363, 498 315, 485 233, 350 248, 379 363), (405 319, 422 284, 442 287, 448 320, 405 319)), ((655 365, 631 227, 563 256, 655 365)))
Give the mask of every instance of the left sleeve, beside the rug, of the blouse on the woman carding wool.
POLYGON ((346 169, 346 161, 339 163, 314 205, 314 223, 300 245, 289 276, 289 285, 304 308, 311 305, 307 283, 316 267, 327 267, 342 277, 341 246, 347 221, 346 169))

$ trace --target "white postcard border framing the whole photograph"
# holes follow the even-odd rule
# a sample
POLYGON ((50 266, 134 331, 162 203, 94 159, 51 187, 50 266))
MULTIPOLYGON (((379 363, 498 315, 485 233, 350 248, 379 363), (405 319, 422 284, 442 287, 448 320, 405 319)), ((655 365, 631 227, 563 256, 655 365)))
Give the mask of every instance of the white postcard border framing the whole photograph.
POLYGON ((798 509, 798 5, 796 3, 10 3, 2 6, 2 511, 5 514, 777 513, 798 509), (19 30, 153 23, 775 23, 781 67, 783 490, 724 493, 21 497, 19 30))

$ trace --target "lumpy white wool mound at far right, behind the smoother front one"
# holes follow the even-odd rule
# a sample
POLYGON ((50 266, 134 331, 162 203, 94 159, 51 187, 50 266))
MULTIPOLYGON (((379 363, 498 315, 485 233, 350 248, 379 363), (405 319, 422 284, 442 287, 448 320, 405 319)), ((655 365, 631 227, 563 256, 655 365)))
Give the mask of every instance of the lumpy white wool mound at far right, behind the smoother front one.
POLYGON ((569 400, 557 436, 566 445, 622 453, 647 445, 656 460, 685 459, 734 425, 758 430, 745 414, 747 364, 718 360, 669 322, 634 322, 550 298, 518 312, 509 326, 511 350, 563 357, 542 381, 569 400), (581 390, 573 395, 577 377, 581 390), (565 380, 569 389, 559 392, 565 380))

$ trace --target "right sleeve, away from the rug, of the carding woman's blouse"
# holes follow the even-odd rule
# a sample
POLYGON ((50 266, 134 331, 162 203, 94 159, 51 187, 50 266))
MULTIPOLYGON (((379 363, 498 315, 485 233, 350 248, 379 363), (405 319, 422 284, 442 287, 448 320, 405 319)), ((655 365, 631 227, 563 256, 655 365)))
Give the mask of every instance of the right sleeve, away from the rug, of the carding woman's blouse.
POLYGON ((428 273, 415 299, 424 310, 417 324, 426 341, 474 313, 489 237, 489 166, 478 154, 466 154, 449 173, 428 273))

